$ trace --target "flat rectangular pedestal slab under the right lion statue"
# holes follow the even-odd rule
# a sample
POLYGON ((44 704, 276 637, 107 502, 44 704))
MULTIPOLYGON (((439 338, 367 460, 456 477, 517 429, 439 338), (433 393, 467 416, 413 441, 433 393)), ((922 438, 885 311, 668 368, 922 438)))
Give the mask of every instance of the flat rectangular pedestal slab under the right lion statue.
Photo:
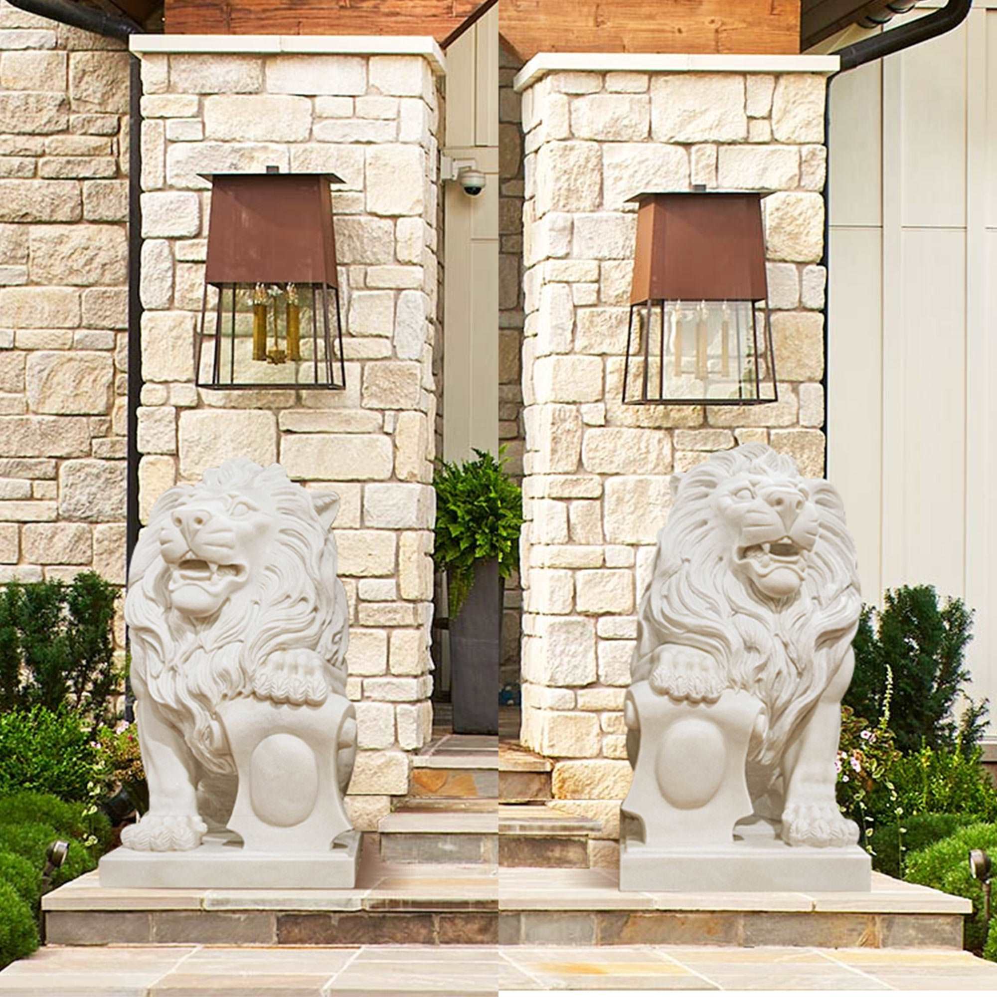
POLYGON ((791 847, 756 834, 704 847, 620 842, 620 889, 626 892, 865 892, 871 886, 872 859, 857 844, 791 847))

